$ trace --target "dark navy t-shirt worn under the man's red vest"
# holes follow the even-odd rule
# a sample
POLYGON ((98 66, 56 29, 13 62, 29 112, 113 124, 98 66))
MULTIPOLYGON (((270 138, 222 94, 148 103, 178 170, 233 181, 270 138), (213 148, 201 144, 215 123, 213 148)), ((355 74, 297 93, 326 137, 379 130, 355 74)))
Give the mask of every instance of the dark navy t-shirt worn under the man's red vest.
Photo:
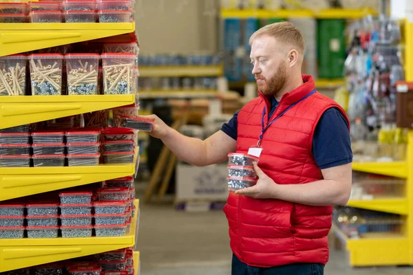
MULTIPOLYGON (((271 97, 269 117, 273 115, 277 106, 277 100, 271 97)), ((238 112, 235 113, 228 123, 224 123, 221 128, 224 133, 234 140, 237 140, 237 116, 238 112)), ((323 115, 321 115, 313 135, 313 155, 320 169, 352 162, 348 124, 338 109, 327 109, 323 115)))

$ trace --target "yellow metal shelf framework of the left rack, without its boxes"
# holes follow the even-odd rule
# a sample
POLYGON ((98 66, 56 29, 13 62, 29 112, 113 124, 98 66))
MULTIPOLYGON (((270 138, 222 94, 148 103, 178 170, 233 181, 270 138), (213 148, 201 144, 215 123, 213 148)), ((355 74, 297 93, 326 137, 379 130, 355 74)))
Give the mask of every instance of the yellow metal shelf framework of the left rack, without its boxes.
MULTIPOLYGON (((0 56, 134 31, 135 23, 0 23, 0 56)), ((0 129, 134 102, 134 95, 1 96, 0 129)), ((138 157, 136 153, 135 159, 138 157)), ((0 168, 0 201, 134 175, 136 165, 134 162, 129 165, 89 167, 0 168)), ((135 206, 138 210, 138 200, 135 206)), ((139 210, 132 220, 131 231, 121 237, 0 239, 0 272, 133 247, 138 234, 138 221, 139 210)), ((134 253, 134 259, 135 274, 138 274, 139 252, 134 253)))

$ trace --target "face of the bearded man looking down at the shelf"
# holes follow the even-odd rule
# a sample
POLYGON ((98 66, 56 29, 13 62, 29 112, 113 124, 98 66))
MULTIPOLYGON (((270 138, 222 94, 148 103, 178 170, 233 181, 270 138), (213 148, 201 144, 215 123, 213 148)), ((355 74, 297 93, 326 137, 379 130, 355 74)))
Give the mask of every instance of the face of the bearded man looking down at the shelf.
POLYGON ((258 36, 251 45, 251 63, 258 90, 274 96, 288 79, 287 53, 271 36, 258 36))

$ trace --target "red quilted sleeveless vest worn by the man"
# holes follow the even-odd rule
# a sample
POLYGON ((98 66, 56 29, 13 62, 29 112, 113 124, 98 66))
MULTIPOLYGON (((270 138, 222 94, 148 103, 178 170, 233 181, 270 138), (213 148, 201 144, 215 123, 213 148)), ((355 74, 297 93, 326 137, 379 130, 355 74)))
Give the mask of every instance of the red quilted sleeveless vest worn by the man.
MULTIPOLYGON (((315 89, 311 76, 303 75, 303 80, 303 85, 282 96, 271 120, 315 89)), ((266 124, 271 104, 262 94, 238 113, 237 152, 246 153, 257 144, 265 106, 266 124)), ((347 118, 339 104, 316 92, 271 124, 264 133, 258 163, 266 175, 277 184, 305 184, 323 179, 312 153, 313 133, 321 115, 331 107, 347 118)), ((328 261, 332 206, 253 199, 231 192, 224 212, 233 253, 248 265, 273 267, 328 261)))

